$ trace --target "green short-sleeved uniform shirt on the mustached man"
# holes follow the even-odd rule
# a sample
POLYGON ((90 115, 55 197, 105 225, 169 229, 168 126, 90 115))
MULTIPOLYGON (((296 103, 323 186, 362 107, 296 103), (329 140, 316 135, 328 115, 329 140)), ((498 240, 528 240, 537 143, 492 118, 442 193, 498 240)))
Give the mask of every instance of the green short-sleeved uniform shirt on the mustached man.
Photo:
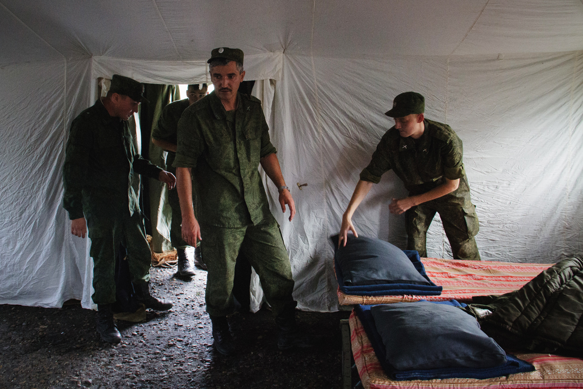
POLYGON ((270 212, 258 167, 276 149, 261 101, 241 93, 237 100, 237 110, 227 112, 212 92, 186 108, 178 122, 174 167, 192 168, 202 224, 257 225, 270 212))

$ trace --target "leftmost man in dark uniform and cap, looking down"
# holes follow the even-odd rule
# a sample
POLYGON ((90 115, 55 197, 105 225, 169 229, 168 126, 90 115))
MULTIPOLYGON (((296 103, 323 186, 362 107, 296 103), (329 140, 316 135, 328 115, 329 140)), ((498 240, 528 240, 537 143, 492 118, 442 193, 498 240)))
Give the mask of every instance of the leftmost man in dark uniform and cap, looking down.
POLYGON ((97 332, 110 343, 121 341, 111 311, 120 244, 127 250, 138 301, 160 311, 173 306, 149 290, 152 255, 139 205, 139 174, 163 181, 168 188, 174 187, 176 178, 143 159, 136 149, 128 119, 145 100, 142 93, 141 83, 113 75, 107 96, 73 120, 63 168, 64 208, 71 219, 71 233, 85 238, 89 230, 91 239, 97 332))

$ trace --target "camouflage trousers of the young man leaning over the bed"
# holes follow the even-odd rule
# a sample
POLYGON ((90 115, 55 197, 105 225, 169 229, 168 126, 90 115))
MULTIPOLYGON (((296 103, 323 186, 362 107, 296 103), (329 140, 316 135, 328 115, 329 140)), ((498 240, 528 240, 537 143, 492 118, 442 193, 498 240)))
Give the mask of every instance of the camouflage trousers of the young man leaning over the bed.
POLYGON ((480 227, 469 192, 463 197, 448 194, 408 209, 405 212, 407 250, 417 250, 420 257, 427 257, 427 230, 436 213, 440 215, 454 259, 479 261, 474 237, 480 227))

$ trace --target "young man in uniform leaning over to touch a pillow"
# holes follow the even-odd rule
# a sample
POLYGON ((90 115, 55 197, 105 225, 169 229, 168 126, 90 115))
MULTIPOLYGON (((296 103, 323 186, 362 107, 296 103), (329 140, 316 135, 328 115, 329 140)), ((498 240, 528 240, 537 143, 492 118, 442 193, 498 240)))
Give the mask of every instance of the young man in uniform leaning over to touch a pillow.
POLYGON ((425 99, 419 93, 395 97, 392 109, 385 113, 395 118, 395 126, 382 136, 370 164, 360 173, 342 216, 339 243, 346 245, 349 230, 357 236, 354 211, 373 183, 393 169, 409 190, 409 197, 392 199, 389 205, 391 213, 405 212, 407 249, 427 256, 427 229, 438 212, 454 258, 480 260, 474 238, 479 225, 463 169, 462 141, 447 124, 425 119, 424 110, 425 99))

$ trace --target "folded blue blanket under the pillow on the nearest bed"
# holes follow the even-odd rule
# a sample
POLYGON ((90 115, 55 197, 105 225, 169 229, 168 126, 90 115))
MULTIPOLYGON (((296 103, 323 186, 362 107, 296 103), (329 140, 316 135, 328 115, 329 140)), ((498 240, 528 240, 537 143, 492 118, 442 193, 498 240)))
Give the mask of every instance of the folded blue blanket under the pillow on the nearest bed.
MULTIPOLYGON (((433 303, 433 302, 432 302, 433 303)), ((462 306, 456 300, 446 303, 452 306, 462 306)), ((465 304, 463 304, 465 305, 465 304)), ((508 374, 532 372, 535 367, 524 360, 518 359, 507 353, 507 363, 500 366, 488 367, 484 369, 471 369, 468 367, 455 368, 440 368, 440 369, 424 369, 424 370, 396 370, 387 363, 387 354, 385 352, 385 345, 382 342, 381 335, 378 333, 374 323, 373 316, 370 309, 372 305, 357 305, 354 311, 360 318, 363 324, 364 331, 370 339, 371 344, 382 369, 387 376, 395 381, 405 380, 433 380, 433 379, 447 379, 447 378, 472 378, 472 379, 488 379, 493 377, 507 376, 508 374)))

